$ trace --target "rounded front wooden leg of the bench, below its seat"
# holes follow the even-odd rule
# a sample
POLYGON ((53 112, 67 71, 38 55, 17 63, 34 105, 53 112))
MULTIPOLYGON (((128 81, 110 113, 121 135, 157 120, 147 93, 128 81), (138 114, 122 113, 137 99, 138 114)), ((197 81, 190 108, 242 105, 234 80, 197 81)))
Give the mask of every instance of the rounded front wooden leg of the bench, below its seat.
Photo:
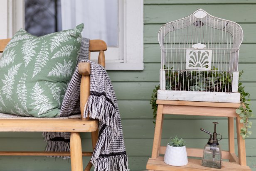
POLYGON ((83 171, 82 146, 79 132, 70 135, 71 171, 83 171))

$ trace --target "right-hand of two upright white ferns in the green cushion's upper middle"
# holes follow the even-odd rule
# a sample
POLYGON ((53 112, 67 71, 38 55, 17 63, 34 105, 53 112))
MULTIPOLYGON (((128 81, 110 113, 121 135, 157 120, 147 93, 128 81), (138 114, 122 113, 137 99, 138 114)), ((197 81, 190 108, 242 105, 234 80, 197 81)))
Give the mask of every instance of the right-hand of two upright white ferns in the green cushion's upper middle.
POLYGON ((42 68, 44 68, 44 66, 47 64, 47 61, 49 61, 49 52, 48 52, 48 48, 47 45, 45 45, 47 42, 44 41, 42 49, 39 51, 37 58, 36 58, 36 62, 34 64, 34 71, 33 71, 33 75, 32 78, 34 76, 37 75, 37 73, 39 73, 41 71, 42 68))

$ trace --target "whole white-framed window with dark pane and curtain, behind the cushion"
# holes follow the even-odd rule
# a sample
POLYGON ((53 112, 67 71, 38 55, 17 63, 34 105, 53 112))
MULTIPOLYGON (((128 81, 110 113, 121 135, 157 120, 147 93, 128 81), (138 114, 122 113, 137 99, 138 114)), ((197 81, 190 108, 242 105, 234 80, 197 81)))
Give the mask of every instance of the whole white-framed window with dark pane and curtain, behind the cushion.
MULTIPOLYGON (((2 5, 5 3, 7 11, 0 13, 9 17, 6 25, 15 23, 2 33, 6 31, 7 37, 23 26, 24 14, 26 29, 37 36, 84 22, 84 37, 108 44, 107 70, 143 70, 143 0, 3 0, 2 5), (37 5, 34 12, 33 4, 37 5)), ((91 59, 96 60, 96 54, 91 59)))

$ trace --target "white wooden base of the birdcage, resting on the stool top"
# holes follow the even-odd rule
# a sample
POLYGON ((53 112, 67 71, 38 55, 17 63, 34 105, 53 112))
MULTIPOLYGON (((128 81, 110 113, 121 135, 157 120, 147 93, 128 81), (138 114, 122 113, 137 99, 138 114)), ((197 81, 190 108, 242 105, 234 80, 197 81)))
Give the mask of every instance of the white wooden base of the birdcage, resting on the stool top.
POLYGON ((158 100, 240 103, 240 93, 158 90, 158 100))

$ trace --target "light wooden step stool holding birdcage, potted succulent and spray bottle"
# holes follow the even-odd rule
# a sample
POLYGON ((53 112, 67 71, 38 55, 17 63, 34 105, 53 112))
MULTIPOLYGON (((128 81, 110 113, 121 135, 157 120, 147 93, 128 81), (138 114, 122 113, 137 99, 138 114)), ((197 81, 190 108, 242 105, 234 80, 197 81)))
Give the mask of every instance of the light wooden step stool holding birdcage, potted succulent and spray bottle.
MULTIPOLYGON (((246 166, 245 141, 240 135, 243 123, 240 123, 241 117, 235 111, 241 105, 240 103, 157 100, 157 104, 158 112, 152 156, 148 159, 147 163, 149 171, 251 171, 249 166, 246 166), (165 154, 166 150, 165 146, 160 146, 163 114, 228 117, 229 151, 222 151, 222 159, 228 159, 229 162, 223 161, 222 169, 204 167, 201 165, 201 160, 198 159, 188 159, 186 166, 170 166, 165 164, 163 161, 164 157, 159 156, 159 154, 165 154), (238 157, 235 154, 234 117, 236 118, 238 157)), ((202 157, 203 149, 187 148, 187 156, 202 157)))

